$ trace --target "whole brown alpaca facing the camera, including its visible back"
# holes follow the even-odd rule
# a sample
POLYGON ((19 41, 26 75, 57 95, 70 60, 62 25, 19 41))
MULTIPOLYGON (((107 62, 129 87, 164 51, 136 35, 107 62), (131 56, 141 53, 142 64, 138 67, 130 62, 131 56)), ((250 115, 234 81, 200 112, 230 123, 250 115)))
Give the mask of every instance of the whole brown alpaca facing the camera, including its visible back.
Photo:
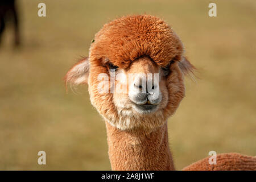
MULTIPOLYGON (((167 119, 185 95, 184 75, 193 69, 167 23, 130 15, 102 27, 89 58, 68 71, 65 84, 88 84, 90 101, 105 120, 113 170, 174 170, 167 119), (112 92, 117 87, 122 92, 112 92)), ((220 154, 214 168, 203 159, 184 169, 256 169, 256 158, 220 154)))

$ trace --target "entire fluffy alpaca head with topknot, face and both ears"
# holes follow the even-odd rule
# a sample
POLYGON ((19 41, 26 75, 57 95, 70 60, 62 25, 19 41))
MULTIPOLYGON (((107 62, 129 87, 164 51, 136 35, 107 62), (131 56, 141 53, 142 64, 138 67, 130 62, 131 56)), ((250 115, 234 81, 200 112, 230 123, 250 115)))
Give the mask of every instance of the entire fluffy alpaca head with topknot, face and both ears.
POLYGON ((89 58, 65 76, 88 83, 90 101, 121 130, 153 130, 167 121, 184 97, 183 75, 193 66, 183 45, 161 19, 132 15, 105 24, 95 35, 89 58))

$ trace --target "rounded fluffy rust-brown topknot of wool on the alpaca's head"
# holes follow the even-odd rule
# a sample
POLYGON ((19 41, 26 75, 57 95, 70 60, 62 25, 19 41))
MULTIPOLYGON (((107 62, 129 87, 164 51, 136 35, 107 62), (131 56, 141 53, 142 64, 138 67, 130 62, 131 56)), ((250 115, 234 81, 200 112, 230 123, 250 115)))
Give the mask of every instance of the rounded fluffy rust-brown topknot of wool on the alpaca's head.
POLYGON ((105 24, 90 47, 90 61, 109 59, 126 68, 130 61, 148 56, 165 66, 180 60, 183 45, 164 20, 151 15, 130 15, 105 24))

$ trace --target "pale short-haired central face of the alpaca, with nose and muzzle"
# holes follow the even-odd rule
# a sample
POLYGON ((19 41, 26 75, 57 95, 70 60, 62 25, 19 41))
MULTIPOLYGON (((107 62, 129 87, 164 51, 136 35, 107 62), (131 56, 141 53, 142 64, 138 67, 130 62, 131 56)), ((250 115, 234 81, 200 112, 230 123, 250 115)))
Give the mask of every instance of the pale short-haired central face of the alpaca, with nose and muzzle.
POLYGON ((150 115, 167 105, 166 71, 148 57, 116 69, 113 101, 120 115, 150 115))

